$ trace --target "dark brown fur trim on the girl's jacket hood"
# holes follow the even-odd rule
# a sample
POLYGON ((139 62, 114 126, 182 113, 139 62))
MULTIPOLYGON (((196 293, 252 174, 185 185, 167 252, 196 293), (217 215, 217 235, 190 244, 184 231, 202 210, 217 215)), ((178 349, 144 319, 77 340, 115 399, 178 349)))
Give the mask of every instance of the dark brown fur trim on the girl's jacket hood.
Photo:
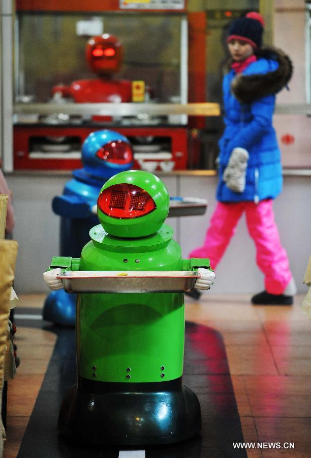
POLYGON ((256 52, 257 59, 272 59, 278 63, 273 72, 257 75, 238 74, 231 83, 234 96, 241 103, 252 103, 268 95, 276 94, 287 86, 293 74, 293 64, 281 49, 261 48, 256 52))

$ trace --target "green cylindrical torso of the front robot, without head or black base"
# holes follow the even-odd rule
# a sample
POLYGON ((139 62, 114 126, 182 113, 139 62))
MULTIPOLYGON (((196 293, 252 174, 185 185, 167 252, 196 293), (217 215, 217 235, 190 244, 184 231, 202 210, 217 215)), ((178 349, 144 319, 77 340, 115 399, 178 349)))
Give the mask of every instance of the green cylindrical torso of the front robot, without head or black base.
MULTIPOLYGON (((166 224, 150 236, 90 231, 80 270, 182 270, 181 250, 166 224)), ((78 375, 101 382, 160 382, 182 375, 183 293, 92 293, 77 300, 78 375)))

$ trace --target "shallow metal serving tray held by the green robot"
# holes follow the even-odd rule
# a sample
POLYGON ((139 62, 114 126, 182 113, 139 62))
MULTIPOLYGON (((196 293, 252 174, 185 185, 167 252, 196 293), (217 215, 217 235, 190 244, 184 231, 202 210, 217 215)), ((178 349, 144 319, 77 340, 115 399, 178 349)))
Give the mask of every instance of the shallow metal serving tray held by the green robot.
POLYGON ((79 271, 57 275, 67 293, 172 293, 192 291, 195 271, 79 271))

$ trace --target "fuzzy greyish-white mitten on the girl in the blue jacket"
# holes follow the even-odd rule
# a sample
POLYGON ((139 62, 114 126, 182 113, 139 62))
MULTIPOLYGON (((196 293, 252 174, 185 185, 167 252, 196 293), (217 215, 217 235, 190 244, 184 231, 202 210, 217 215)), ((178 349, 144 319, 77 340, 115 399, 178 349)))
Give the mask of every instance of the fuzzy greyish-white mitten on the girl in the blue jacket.
POLYGON ((234 148, 232 150, 223 176, 224 182, 231 191, 244 191, 248 157, 249 155, 244 148, 234 148))

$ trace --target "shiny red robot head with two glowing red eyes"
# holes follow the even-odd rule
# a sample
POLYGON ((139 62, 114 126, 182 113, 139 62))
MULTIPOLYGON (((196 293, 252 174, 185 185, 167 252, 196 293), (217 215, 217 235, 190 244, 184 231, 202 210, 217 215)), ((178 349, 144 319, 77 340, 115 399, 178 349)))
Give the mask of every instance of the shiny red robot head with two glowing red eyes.
POLYGON ((119 71, 122 65, 123 47, 113 35, 92 37, 86 45, 86 61, 98 75, 109 75, 119 71))

